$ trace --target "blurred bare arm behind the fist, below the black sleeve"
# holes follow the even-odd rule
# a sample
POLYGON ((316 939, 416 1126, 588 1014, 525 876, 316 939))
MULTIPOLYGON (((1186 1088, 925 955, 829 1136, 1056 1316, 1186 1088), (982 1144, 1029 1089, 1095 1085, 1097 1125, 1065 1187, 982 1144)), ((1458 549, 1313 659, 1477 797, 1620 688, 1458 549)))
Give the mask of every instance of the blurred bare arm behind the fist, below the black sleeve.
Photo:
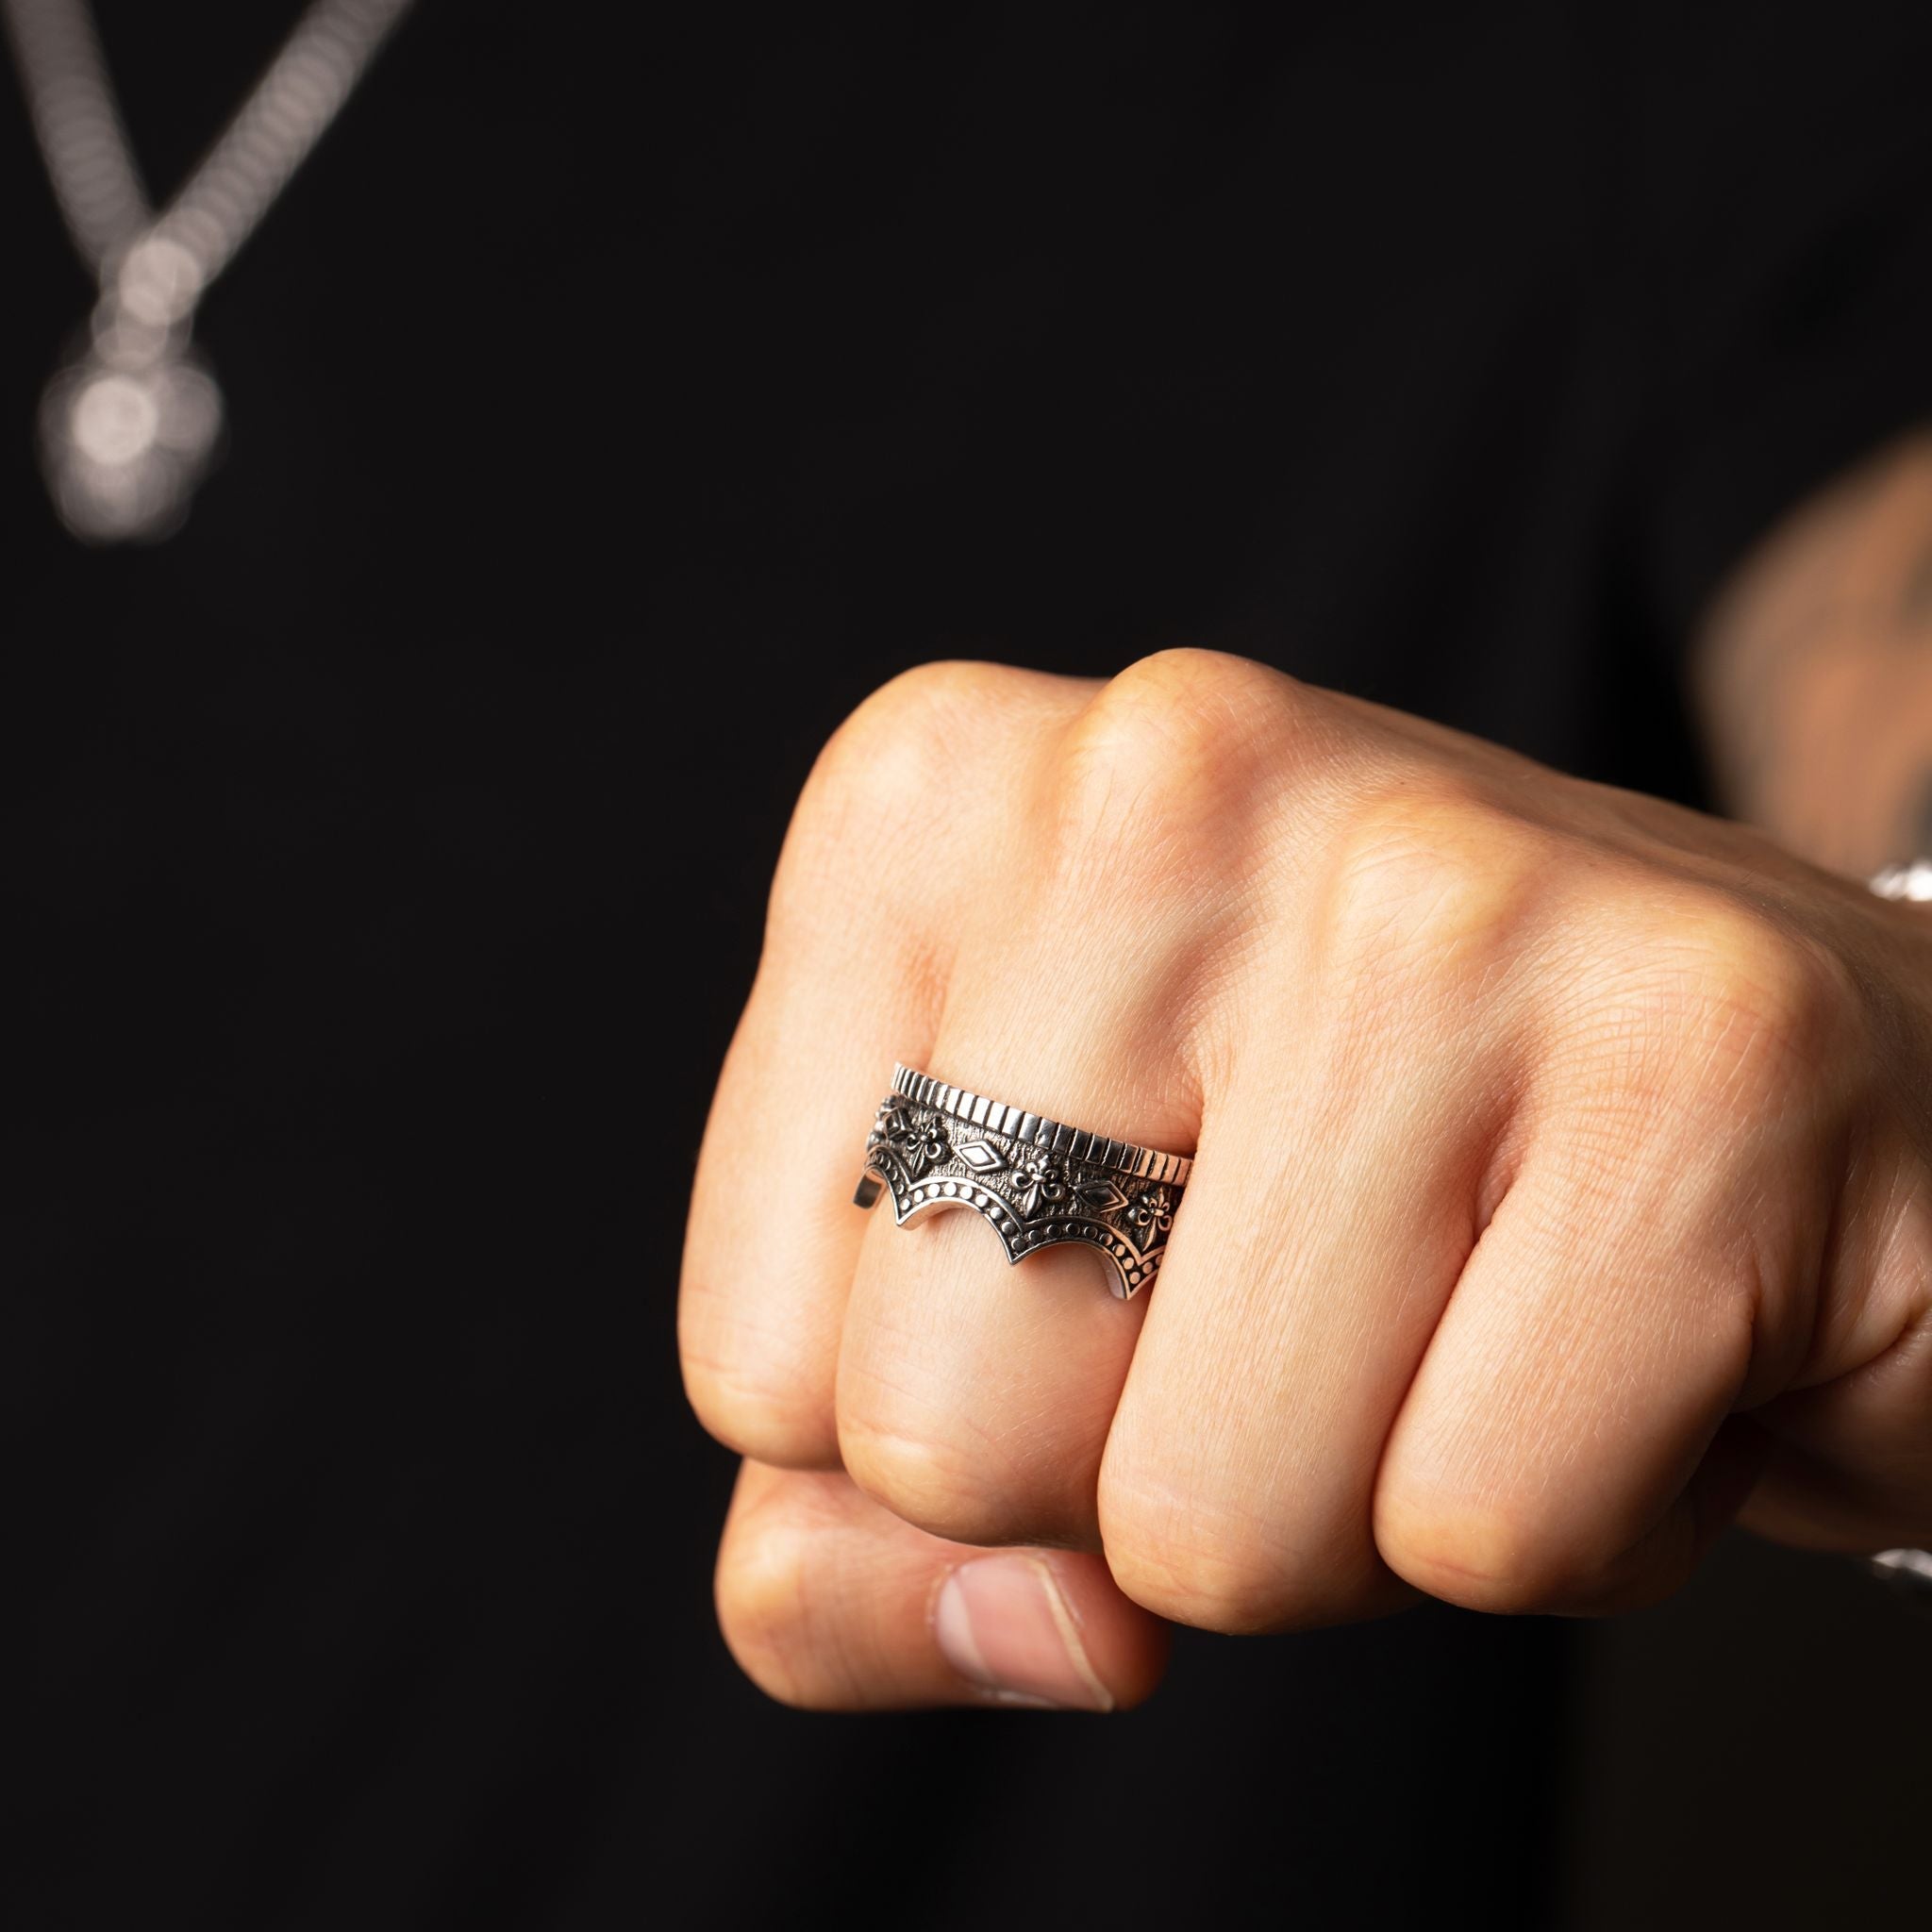
POLYGON ((1855 875, 1932 852, 1932 431, 1745 560, 1698 639, 1694 690, 1737 817, 1855 875))

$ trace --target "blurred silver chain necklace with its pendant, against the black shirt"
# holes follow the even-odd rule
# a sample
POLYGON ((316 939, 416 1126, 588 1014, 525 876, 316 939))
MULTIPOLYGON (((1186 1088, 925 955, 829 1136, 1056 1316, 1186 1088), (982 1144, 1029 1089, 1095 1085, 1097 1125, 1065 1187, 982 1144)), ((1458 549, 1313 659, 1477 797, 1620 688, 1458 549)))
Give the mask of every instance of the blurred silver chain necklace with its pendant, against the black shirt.
POLYGON ((89 541, 174 531, 220 437, 195 307, 309 156, 412 0, 311 0, 158 213, 87 0, 0 0, 27 112, 73 245, 100 284, 79 355, 46 386, 41 460, 89 541))

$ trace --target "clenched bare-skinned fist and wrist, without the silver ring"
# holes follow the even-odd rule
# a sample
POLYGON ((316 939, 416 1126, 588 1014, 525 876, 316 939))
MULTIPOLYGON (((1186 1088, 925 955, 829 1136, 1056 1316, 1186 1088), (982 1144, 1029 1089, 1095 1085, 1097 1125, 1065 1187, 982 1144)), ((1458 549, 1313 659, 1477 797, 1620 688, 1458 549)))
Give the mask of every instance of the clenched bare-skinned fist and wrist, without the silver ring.
POLYGON ((914 672, 798 806, 699 1163, 726 1636, 1105 1704, 1159 1619, 1605 1611, 1741 1505, 1926 1540, 1928 1151, 1918 908, 1238 659, 914 672), (1157 1287, 854 1209, 895 1059, 1198 1148, 1157 1287))

